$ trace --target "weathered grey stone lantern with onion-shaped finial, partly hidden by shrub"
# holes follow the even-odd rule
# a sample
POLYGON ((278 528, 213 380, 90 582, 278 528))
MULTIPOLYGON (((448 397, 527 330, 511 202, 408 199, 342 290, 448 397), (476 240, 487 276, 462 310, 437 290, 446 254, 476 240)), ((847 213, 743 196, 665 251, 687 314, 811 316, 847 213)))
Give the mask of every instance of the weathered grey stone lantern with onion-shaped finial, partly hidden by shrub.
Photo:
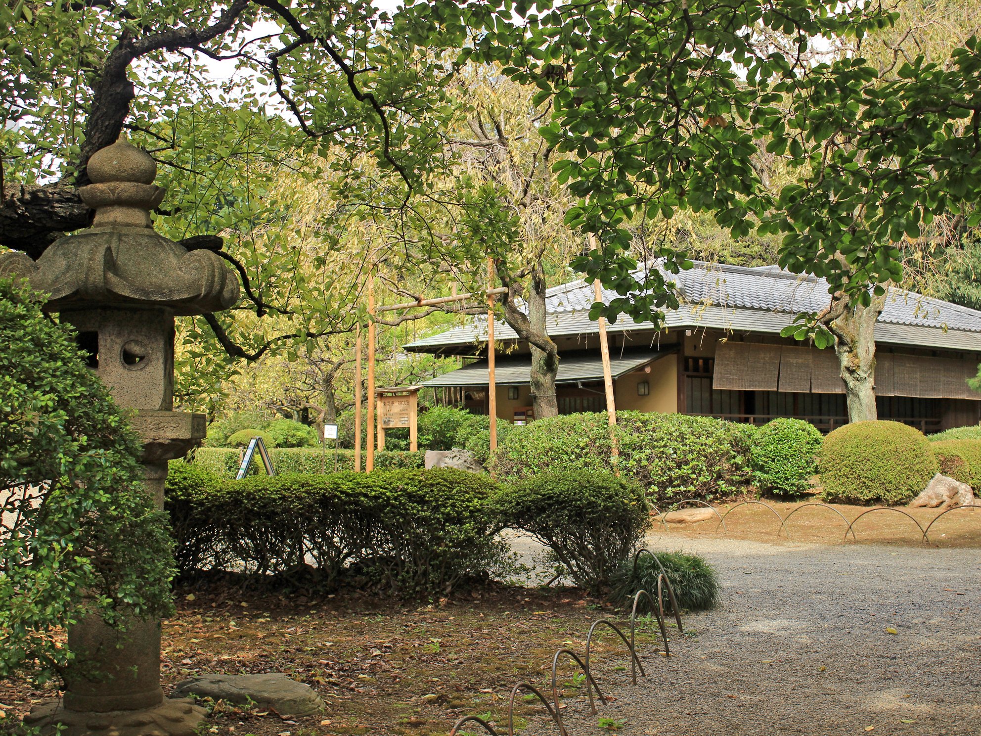
MULTIPOLYGON (((32 261, 21 253, 0 256, 0 276, 26 278, 50 294, 46 309, 78 331, 88 365, 116 402, 135 409, 133 427, 143 439, 145 487, 163 507, 167 461, 205 435, 203 414, 173 411, 174 318, 228 309, 238 282, 221 257, 188 251, 153 231, 150 210, 164 189, 153 184, 157 166, 123 139, 88 161, 93 184, 82 200, 95 210, 92 226, 61 237, 32 261)), ((166 701, 160 687, 160 623, 129 620, 120 633, 97 615, 69 631, 69 646, 84 661, 66 676, 63 701, 35 709, 30 725, 69 736, 190 736, 204 710, 166 701)))

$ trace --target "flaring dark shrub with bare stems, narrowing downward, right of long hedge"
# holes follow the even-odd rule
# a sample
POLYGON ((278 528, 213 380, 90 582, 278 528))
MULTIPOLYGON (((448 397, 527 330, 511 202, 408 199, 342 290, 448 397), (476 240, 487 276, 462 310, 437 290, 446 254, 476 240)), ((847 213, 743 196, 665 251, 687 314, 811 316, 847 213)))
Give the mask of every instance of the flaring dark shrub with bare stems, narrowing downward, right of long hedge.
POLYGON ((504 486, 494 504, 503 526, 531 534, 594 593, 650 525, 640 484, 601 471, 538 473, 504 486))

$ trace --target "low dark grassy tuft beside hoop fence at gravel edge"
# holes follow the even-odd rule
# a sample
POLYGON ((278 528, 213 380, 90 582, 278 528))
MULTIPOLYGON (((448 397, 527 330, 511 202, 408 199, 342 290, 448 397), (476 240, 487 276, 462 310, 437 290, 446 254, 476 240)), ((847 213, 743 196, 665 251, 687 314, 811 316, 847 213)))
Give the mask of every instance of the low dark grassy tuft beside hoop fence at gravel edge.
MULTIPOLYGON (((638 591, 646 591, 657 600, 657 576, 662 572, 671 582, 678 605, 689 610, 711 608, 719 601, 721 586, 719 577, 703 557, 685 552, 654 552, 657 561, 649 554, 641 554, 620 566, 613 578, 610 600, 619 605, 633 605, 638 591), (659 563, 659 564, 658 564, 659 563)), ((671 609, 667 589, 663 591, 665 612, 671 609)), ((643 598, 638 610, 649 611, 650 602, 643 598)))

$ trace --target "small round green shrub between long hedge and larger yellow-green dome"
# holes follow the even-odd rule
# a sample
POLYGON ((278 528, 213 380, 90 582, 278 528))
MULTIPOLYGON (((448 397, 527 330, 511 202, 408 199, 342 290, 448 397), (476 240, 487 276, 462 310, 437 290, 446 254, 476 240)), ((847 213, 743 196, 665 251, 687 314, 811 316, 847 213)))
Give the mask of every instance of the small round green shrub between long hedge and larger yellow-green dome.
POLYGON ((798 495, 817 472, 821 433, 810 422, 780 418, 767 422, 749 443, 752 480, 760 491, 798 495))

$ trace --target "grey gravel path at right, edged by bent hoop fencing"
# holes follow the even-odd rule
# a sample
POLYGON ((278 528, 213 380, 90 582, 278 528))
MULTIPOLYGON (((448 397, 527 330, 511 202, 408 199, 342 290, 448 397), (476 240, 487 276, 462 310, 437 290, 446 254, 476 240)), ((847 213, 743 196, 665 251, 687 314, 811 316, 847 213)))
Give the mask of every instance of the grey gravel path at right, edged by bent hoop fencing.
MULTIPOLYGON (((979 551, 664 538, 651 547, 707 557, 722 604, 685 618, 694 635, 676 634, 669 659, 642 652, 648 676, 637 687, 614 669, 626 657, 597 662, 616 698, 599 716, 625 720, 618 733, 981 736, 979 551)), ((600 733, 585 697, 565 711, 571 736, 600 733)))

